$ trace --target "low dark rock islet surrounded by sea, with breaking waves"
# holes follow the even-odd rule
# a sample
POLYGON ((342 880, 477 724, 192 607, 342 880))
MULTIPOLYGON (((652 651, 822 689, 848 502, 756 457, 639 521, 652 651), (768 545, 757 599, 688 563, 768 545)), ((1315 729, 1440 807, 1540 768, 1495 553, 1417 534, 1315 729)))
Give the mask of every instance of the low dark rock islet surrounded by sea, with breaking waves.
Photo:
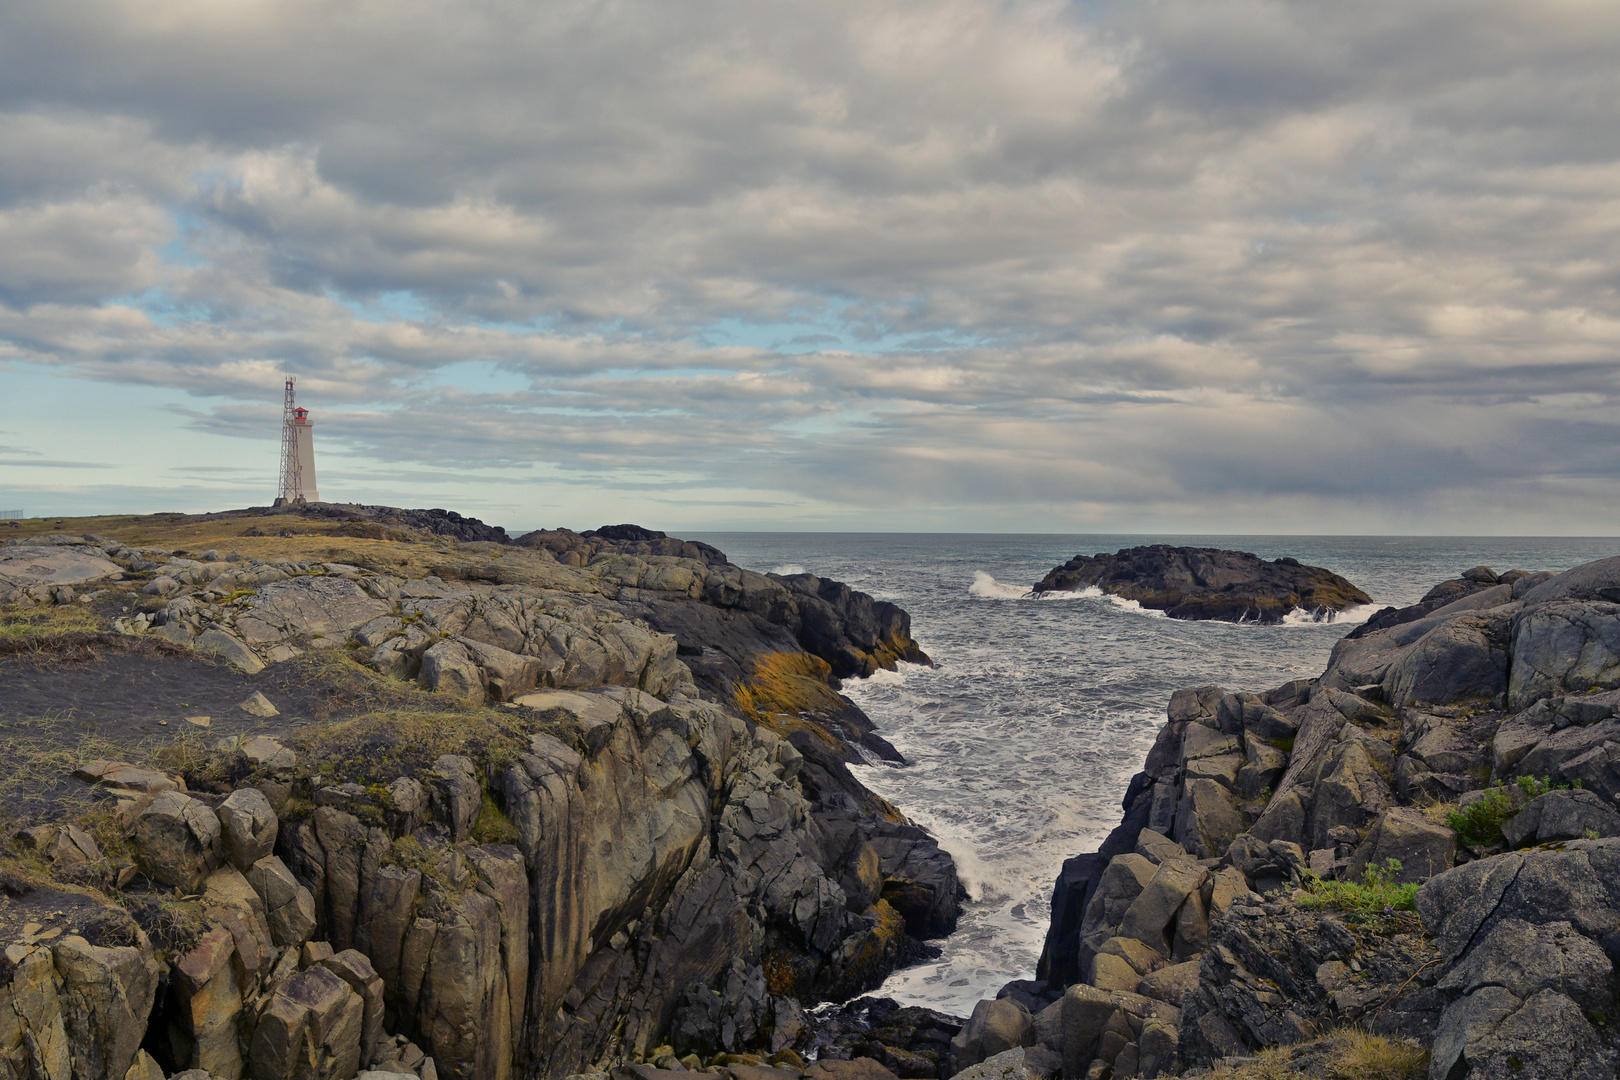
POLYGON ((1294 610, 1332 619, 1372 597, 1322 567, 1298 559, 1267 562, 1243 551, 1126 547, 1113 555, 1076 555, 1053 567, 1034 591, 1051 593, 1097 588, 1171 619, 1223 622, 1281 622, 1294 610))

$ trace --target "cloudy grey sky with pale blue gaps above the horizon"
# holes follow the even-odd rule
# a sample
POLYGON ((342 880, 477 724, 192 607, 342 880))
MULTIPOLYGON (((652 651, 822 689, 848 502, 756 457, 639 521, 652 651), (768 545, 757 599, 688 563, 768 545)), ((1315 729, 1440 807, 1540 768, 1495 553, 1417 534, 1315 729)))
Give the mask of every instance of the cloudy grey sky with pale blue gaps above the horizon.
POLYGON ((1620 528, 1605 0, 0 3, 0 507, 1620 528))

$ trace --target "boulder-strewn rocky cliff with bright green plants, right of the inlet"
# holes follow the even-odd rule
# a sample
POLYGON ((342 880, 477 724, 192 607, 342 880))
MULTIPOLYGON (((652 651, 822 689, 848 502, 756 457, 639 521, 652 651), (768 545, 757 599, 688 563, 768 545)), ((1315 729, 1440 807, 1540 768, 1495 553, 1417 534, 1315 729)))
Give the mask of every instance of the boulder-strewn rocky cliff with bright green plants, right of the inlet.
POLYGON ((1617 588, 1476 567, 1319 678, 1178 691, 951 1069, 1614 1077, 1617 588))

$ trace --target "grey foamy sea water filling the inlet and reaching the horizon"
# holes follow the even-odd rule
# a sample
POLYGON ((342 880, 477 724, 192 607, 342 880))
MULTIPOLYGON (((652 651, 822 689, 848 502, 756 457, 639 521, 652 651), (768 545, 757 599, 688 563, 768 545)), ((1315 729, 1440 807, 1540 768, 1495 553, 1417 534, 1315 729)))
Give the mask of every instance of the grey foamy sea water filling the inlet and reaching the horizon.
POLYGON ((836 578, 912 617, 936 667, 902 664, 849 695, 906 756, 857 766, 872 790, 930 829, 969 891, 936 962, 878 991, 967 1015, 1032 978, 1063 860, 1095 850, 1173 690, 1262 691, 1322 674, 1333 643, 1385 604, 1411 604, 1474 565, 1565 570, 1620 554, 1617 539, 1383 536, 701 534, 750 570, 836 578), (1029 588, 1084 554, 1181 544, 1293 555, 1345 575, 1374 606, 1335 622, 1179 622, 1132 602, 1029 588))

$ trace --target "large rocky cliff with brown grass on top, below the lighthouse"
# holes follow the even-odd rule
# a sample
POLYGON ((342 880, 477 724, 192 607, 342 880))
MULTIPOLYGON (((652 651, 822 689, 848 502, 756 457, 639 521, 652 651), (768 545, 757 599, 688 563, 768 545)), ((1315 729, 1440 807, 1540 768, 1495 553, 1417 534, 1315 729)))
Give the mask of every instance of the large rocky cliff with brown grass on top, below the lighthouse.
POLYGON ((802 1065, 804 1006, 951 931, 949 857, 846 767, 897 758, 838 678, 927 662, 904 612, 361 510, 0 547, 0 1077, 802 1065))

